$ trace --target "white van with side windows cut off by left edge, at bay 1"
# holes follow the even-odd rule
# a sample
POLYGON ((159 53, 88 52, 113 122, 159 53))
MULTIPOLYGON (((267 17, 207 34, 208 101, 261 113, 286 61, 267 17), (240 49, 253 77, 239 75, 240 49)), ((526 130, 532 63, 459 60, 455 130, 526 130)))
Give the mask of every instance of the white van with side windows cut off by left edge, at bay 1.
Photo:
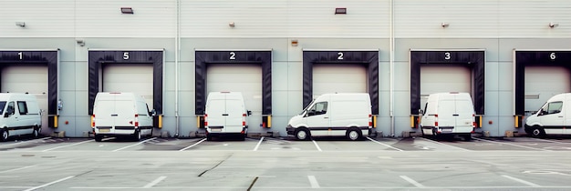
POLYGON ((35 95, 0 94, 0 141, 9 136, 39 136, 42 116, 35 95))

